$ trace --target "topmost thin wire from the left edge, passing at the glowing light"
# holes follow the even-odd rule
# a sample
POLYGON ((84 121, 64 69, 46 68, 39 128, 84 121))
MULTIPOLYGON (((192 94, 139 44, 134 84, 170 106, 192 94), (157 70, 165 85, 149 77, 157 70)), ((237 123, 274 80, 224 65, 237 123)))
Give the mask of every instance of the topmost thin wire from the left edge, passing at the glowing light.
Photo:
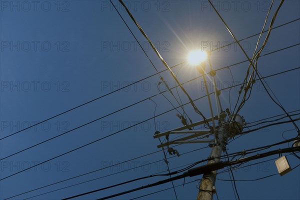
MULTIPOLYGON (((278 26, 276 26, 276 27, 273 27, 273 28, 271 28, 271 29, 275 29, 275 28, 278 28, 278 27, 287 25, 287 24, 292 23, 292 22, 295 22, 295 21, 297 21, 297 20, 299 20, 299 19, 300 19, 300 18, 296 18, 296 19, 294 19, 294 20, 288 21, 288 22, 286 22, 286 23, 283 23, 283 24, 278 25, 278 26)), ((263 31, 263 32, 265 32, 265 31, 263 31)), ((245 38, 243 38, 243 39, 240 39, 240 40, 238 40, 238 41, 242 41, 242 40, 244 40, 244 39, 248 39, 248 38, 251 38, 251 37, 256 36, 256 35, 259 35, 259 33, 256 33, 256 34, 247 36, 247 37, 245 37, 245 38)), ((220 47, 218 47, 218 48, 216 48, 216 49, 213 49, 213 50, 217 50, 217 49, 220 49, 220 48, 223 48, 223 47, 232 45, 232 44, 234 44, 234 43, 236 43, 236 42, 234 41, 234 42, 232 42, 232 43, 229 43, 229 44, 220 46, 220 47)), ((212 50, 212 51, 213 51, 213 50, 212 50)), ((268 53, 266 53, 266 54, 268 54, 268 53)), ((266 54, 265 54, 265 55, 266 55, 266 54)), ((178 65, 180 65, 180 64, 183 64, 183 63, 185 63, 185 62, 186 62, 186 61, 181 62, 181 63, 179 63, 179 64, 176 64, 176 65, 174 65, 174 66, 171 66, 170 68, 173 68, 173 67, 175 67, 175 66, 178 66, 178 65)), ((168 69, 163 69, 163 70, 161 70, 161 71, 159 71, 159 72, 157 72, 157 73, 154 73, 154 74, 149 75, 149 76, 147 76, 147 77, 144 77, 144 78, 142 78, 142 79, 140 79, 140 80, 137 80, 137 81, 135 81, 135 82, 132 82, 132 83, 130 83, 130 84, 128 84, 128 85, 125 85, 125 86, 123 86, 123 87, 121 87, 121 88, 118 88, 118 89, 116 89, 116 90, 113 90, 113 91, 111 91, 111 92, 109 92, 109 93, 106 93, 106 94, 104 94, 104 95, 102 95, 102 96, 96 97, 96 98, 94 98, 94 99, 92 99, 92 100, 89 100, 89 101, 87 101, 87 102, 85 102, 85 103, 82 103, 82 104, 80 104, 80 105, 77 105, 77 106, 75 106, 75 107, 73 107, 73 108, 70 108, 70 109, 68 109, 68 110, 66 110, 66 111, 60 112, 60 113, 58 113, 58 114, 56 114, 56 115, 54 115, 54 116, 51 116, 51 117, 49 117, 49 118, 47 118, 47 119, 44 119, 44 120, 42 120, 42 121, 40 121, 40 122, 37 122, 37 123, 35 123, 35 124, 31 125, 31 126, 28 126, 28 127, 26 127, 26 128, 23 128, 23 129, 21 129, 21 130, 18 130, 18 131, 16 131, 16 132, 10 134, 10 135, 7 135, 7 136, 5 136, 5 137, 2 137, 2 138, 0 138, 0 140, 1 140, 1 139, 4 139, 4 138, 6 138, 6 137, 12 136, 12 135, 14 135, 14 134, 17 134, 17 133, 19 133, 19 132, 22 132, 22 131, 24 131, 24 130, 26 130, 26 129, 29 129, 29 128, 31 128, 31 127, 34 127, 34 126, 36 126, 36 125, 38 125, 38 124, 40 124, 40 123, 43 123, 43 122, 45 122, 45 121, 47 121, 47 120, 50 120, 50 119, 55 118, 55 117, 57 117, 57 116, 60 116, 60 115, 62 115, 62 114, 64 114, 64 113, 67 113, 67 112, 69 112, 69 111, 71 111, 71 110, 74 110, 74 109, 76 109, 76 108, 78 108, 78 107, 81 107, 81 106, 83 106, 83 105, 85 105, 85 104, 88 104, 88 103, 90 103, 90 102, 93 102, 93 101, 95 101, 95 100, 98 100, 98 99, 100 99, 100 98, 102 98, 102 97, 105 97, 105 96, 107 96, 107 95, 109 95, 109 94, 112 94, 112 93, 114 93, 114 92, 116 92, 116 91, 120 91, 120 90, 122 90, 122 89, 124 89, 124 88, 126 88, 126 87, 128 87, 128 86, 131 86, 131 85, 133 85, 133 84, 136 84, 136 83, 138 83, 138 82, 140 82, 140 81, 142 81, 142 80, 145 80, 145 79, 147 79, 147 78, 150 78, 150 77, 152 77, 152 76, 154 76, 154 75, 157 75, 157 74, 159 74, 159 73, 161 73, 161 72, 164 72, 164 71, 166 71, 166 70, 168 70, 168 69)))

